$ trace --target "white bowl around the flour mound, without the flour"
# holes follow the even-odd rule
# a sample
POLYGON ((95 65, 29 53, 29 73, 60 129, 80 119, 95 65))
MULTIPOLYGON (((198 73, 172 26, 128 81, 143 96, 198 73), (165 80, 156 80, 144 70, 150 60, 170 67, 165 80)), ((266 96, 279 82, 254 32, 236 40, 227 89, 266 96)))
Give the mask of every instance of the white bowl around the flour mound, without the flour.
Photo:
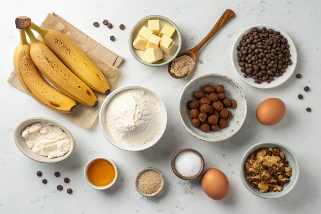
POLYGON ((167 112, 166 112, 166 107, 163 103, 163 101, 160 99, 160 97, 153 91, 140 87, 140 86, 135 86, 135 85, 128 85, 128 86, 123 86, 120 87, 116 90, 114 90, 113 92, 111 92, 108 97, 105 99, 105 101, 103 102, 103 104, 100 107, 100 113, 99 113, 99 124, 100 124, 100 129, 102 131, 102 133, 104 134, 105 138, 114 146, 116 146, 119 149, 122 150, 127 150, 127 151, 140 151, 140 150, 145 150, 148 149, 150 147, 152 147, 153 145, 155 145, 161 138, 161 136, 164 134, 165 129, 166 129, 166 125, 167 125, 167 112), (160 132, 155 136, 154 139, 152 139, 151 141, 143 144, 143 145, 139 145, 139 146, 129 146, 123 143, 120 143, 118 141, 116 141, 112 135, 108 132, 107 129, 107 125, 105 122, 105 115, 106 115, 106 107, 108 106, 109 101, 119 92, 124 91, 124 90, 129 90, 129 89, 140 89, 145 91, 146 93, 151 94, 158 102, 158 104, 160 105, 161 111, 162 111, 162 116, 163 116, 163 124, 161 127, 160 132))

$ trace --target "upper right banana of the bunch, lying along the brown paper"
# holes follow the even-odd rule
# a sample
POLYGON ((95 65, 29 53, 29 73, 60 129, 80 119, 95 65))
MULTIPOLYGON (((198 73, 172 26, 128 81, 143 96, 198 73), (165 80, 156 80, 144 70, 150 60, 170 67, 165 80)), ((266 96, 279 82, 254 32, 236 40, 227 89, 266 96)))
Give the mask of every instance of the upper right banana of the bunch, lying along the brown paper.
POLYGON ((56 30, 44 29, 31 22, 44 43, 91 89, 108 95, 110 87, 99 68, 66 36, 56 30))

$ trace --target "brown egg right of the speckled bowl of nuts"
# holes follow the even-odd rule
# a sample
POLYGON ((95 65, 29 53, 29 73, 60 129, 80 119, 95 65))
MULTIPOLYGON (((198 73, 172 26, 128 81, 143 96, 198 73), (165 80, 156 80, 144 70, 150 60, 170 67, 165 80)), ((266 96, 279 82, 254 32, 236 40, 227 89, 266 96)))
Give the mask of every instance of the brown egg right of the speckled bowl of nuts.
POLYGON ((256 118, 263 125, 275 125, 283 119, 285 112, 286 107, 281 99, 268 98, 257 107, 256 118))

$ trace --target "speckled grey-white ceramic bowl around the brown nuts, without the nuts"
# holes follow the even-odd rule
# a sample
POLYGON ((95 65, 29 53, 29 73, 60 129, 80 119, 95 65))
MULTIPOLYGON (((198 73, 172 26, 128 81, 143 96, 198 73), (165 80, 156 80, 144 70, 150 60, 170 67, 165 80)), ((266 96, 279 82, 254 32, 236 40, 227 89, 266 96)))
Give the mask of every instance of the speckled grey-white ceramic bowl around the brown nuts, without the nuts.
POLYGON ((187 83, 179 99, 178 109, 183 125, 190 134, 202 141, 218 142, 232 137, 241 129, 247 115, 247 101, 243 90, 236 81, 222 74, 210 73, 196 77, 187 83), (203 91, 203 87, 206 85, 213 85, 214 87, 223 85, 226 97, 235 99, 237 102, 236 108, 228 108, 233 114, 233 117, 228 120, 229 125, 216 132, 208 131, 204 133, 198 127, 194 127, 191 122, 192 118, 189 116, 189 110, 186 107, 187 102, 193 99, 193 94, 196 91, 203 91))

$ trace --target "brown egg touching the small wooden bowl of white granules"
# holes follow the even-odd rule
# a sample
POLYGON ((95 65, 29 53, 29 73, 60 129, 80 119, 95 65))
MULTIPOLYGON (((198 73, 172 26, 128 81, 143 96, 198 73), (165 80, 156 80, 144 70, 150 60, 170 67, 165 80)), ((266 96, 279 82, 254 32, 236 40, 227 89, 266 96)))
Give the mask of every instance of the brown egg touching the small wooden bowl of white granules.
POLYGON ((221 200, 229 193, 230 184, 226 175, 221 170, 210 168, 204 172, 202 188, 211 199, 221 200))

